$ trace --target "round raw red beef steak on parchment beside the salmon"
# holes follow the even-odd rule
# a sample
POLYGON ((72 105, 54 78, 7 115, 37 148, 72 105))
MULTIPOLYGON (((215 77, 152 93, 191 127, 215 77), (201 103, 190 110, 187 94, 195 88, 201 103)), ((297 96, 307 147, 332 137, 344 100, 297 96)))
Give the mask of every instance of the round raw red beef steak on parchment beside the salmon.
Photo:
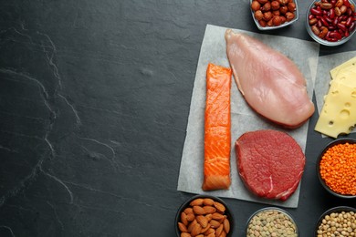
POLYGON ((235 146, 237 170, 248 190, 281 201, 296 191, 305 155, 287 133, 272 129, 246 132, 235 146))

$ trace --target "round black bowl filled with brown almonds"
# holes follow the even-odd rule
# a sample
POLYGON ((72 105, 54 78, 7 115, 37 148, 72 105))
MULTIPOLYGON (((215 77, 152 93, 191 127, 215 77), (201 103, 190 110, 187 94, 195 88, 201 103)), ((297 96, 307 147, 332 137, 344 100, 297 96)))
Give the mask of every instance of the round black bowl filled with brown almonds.
POLYGON ((177 237, 215 233, 233 236, 234 215, 225 201, 211 195, 195 195, 184 201, 174 220, 177 237))

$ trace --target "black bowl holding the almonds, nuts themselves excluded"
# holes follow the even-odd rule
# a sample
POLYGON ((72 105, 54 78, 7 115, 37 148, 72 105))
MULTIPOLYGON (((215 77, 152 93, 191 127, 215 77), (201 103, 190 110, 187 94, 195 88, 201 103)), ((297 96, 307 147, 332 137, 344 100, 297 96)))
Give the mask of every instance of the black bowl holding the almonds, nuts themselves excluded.
MULTIPOLYGON (((182 212, 186 208, 192 207, 190 203, 197 199, 211 199, 211 200, 217 201, 225 206, 225 211, 223 214, 226 216, 227 220, 230 223, 230 231, 227 233, 226 236, 229 236, 229 237, 233 236, 234 229, 235 229, 234 215, 233 215, 233 212, 229 209, 229 207, 225 203, 225 201, 223 201, 222 199, 220 199, 218 197, 212 196, 212 195, 195 195, 194 197, 188 199, 187 201, 184 201, 176 213, 175 220, 174 220, 174 228, 175 228, 177 237, 181 236, 181 231, 179 230, 178 222, 182 222, 181 221, 182 212)), ((197 215, 195 215, 195 217, 196 216, 197 215)))

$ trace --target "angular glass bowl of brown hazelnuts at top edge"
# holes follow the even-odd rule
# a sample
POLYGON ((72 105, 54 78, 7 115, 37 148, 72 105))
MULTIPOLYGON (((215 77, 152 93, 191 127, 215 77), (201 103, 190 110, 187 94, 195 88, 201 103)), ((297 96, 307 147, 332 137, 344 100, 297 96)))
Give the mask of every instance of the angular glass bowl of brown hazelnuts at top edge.
POLYGON ((250 8, 260 30, 290 26, 299 17, 297 0, 250 0, 250 8))

